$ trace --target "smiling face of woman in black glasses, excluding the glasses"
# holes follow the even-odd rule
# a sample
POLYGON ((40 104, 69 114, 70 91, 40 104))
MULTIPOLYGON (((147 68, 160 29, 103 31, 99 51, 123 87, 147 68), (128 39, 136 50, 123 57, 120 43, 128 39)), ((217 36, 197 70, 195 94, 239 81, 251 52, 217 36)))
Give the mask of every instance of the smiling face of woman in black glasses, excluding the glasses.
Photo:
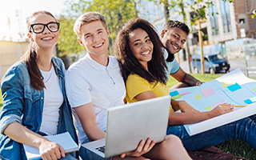
MULTIPOLYGON (((36 14, 33 18, 30 19, 30 24, 42 23, 47 24, 49 22, 56 22, 56 20, 51 17, 49 14, 36 14)), ((34 42, 36 49, 50 49, 52 50, 58 42, 59 30, 57 32, 51 32, 46 27, 40 34, 35 34, 32 29, 28 33, 28 37, 32 42, 34 42)))

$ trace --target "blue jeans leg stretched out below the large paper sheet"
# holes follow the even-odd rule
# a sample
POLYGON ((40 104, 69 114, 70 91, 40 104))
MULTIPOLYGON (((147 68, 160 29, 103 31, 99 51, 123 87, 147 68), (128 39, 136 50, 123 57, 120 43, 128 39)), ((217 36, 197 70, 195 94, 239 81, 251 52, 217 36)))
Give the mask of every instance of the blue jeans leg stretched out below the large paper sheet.
POLYGON ((186 150, 216 146, 232 138, 240 138, 256 149, 256 123, 251 118, 243 118, 193 136, 187 134, 184 126, 168 126, 167 134, 174 134, 181 138, 186 150))

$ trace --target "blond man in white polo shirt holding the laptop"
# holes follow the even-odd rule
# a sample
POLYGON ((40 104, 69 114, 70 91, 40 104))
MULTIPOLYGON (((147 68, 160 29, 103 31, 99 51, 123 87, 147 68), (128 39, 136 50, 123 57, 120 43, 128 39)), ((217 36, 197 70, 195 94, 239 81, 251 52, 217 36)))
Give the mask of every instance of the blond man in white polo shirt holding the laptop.
MULTIPOLYGON (((108 55, 109 30, 102 14, 87 12, 74 23, 78 42, 87 54, 66 71, 66 94, 78 129, 79 143, 87 143, 106 137, 107 109, 124 104, 126 86, 123 82, 117 58, 108 55)), ((128 140, 129 141, 129 140, 128 140)), ((80 157, 105 159, 80 147, 80 157)), ((134 151, 115 156, 116 159, 190 159, 177 136, 155 144, 152 138, 138 142, 134 151), (152 150, 151 150, 152 149, 152 150)))

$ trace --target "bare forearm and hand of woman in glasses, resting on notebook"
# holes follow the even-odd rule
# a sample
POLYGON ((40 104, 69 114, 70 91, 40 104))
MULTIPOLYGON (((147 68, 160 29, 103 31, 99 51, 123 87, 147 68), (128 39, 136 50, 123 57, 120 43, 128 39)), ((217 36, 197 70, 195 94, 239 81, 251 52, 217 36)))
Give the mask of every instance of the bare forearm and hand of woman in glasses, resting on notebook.
POLYGON ((48 139, 34 133, 18 122, 10 123, 3 131, 3 134, 6 134, 16 142, 37 147, 42 159, 59 159, 65 157, 65 150, 62 146, 55 142, 50 142, 48 139))

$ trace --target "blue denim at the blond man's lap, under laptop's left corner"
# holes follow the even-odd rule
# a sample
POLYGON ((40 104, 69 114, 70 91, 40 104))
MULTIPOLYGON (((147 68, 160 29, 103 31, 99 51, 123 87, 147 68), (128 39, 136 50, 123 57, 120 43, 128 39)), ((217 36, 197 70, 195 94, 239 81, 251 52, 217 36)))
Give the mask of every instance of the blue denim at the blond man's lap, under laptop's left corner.
MULTIPOLYGON (((91 142, 89 138, 86 138, 82 144, 85 144, 87 142, 91 142)), ((110 158, 102 158, 98 154, 94 154, 94 152, 87 150, 85 147, 80 146, 79 149, 79 156, 82 158, 82 160, 110 160, 110 158)))

